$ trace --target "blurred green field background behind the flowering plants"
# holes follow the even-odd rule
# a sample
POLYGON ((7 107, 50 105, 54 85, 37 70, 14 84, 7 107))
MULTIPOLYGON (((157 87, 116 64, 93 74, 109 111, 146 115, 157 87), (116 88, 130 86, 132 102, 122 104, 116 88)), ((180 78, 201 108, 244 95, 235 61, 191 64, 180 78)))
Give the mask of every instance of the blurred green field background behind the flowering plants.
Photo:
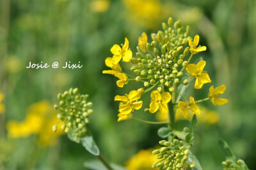
MULTIPOLYGON (((47 100, 58 102, 57 93, 79 88, 90 95, 94 113, 90 117, 102 155, 110 162, 125 165, 135 153, 154 148, 161 140, 159 125, 134 120, 117 123, 118 103, 115 95, 124 95, 143 84, 116 86, 116 78, 103 75, 104 59, 112 57, 115 43, 129 40, 136 52, 138 37, 145 31, 161 29, 168 17, 191 26, 190 36, 200 35, 201 52, 207 61, 212 84, 225 84, 228 104, 208 109, 218 111, 220 121, 202 123, 196 128, 193 152, 204 169, 221 169, 224 155, 218 138, 225 139, 237 157, 250 169, 256 169, 256 1, 157 1, 157 0, 2 0, 0 2, 0 84, 6 109, 0 114, 0 169, 85 169, 83 163, 93 159, 83 146, 67 135, 51 146, 40 146, 36 135, 12 139, 6 125, 10 120, 23 121, 32 104, 47 100), (49 63, 66 61, 83 64, 81 69, 27 69, 29 61, 49 63), (8 147, 9 149, 8 149, 8 147), (36 156, 35 156, 36 155, 36 156)), ((124 69, 129 69, 128 67, 124 69)), ((191 93, 205 98, 209 87, 191 93)), ((189 89, 193 90, 191 86, 189 89)), ((149 102, 149 101, 148 101, 149 102)), ((134 115, 155 120, 154 114, 134 115)))

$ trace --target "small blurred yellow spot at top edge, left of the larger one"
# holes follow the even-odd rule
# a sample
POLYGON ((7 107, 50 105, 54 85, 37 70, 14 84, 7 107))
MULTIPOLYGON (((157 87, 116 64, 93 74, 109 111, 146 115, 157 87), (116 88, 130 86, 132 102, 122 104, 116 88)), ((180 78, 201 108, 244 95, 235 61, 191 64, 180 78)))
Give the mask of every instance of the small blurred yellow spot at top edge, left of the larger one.
POLYGON ((94 0, 90 3, 90 10, 92 12, 106 12, 109 4, 108 0, 94 0))

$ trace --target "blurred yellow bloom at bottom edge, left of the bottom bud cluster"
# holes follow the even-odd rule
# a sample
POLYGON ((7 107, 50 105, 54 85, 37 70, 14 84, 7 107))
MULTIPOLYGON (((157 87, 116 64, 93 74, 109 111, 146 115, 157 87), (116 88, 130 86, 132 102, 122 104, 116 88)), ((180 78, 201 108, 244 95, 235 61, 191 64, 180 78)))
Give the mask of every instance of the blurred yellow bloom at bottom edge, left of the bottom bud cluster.
POLYGON ((141 150, 133 155, 127 162, 126 168, 129 170, 148 170, 157 161, 156 155, 152 154, 154 149, 141 150))

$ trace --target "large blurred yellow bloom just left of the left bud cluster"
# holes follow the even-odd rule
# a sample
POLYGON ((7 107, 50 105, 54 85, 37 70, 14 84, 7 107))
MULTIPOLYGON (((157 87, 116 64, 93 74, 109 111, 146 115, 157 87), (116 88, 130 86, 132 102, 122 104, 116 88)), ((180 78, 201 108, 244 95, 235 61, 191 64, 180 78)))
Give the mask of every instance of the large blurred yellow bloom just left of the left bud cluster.
POLYGON ((6 125, 8 137, 20 138, 38 134, 38 143, 40 145, 47 146, 55 144, 58 136, 63 134, 62 131, 57 133, 52 132, 52 125, 58 121, 56 115, 56 111, 54 111, 52 105, 47 101, 33 104, 29 107, 24 121, 8 121, 6 125))

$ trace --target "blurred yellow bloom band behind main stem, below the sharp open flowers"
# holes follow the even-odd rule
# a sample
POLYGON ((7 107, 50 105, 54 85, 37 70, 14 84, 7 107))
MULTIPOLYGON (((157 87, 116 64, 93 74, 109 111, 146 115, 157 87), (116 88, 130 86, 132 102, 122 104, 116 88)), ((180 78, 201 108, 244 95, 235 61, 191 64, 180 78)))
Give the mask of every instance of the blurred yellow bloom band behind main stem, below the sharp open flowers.
MULTIPOLYGON (((202 105, 200 105, 200 110, 201 110, 202 114, 197 116, 198 123, 207 123, 210 125, 214 125, 214 124, 218 123, 218 121, 220 120, 220 115, 218 114, 218 112, 210 111, 209 109, 207 109, 206 107, 203 107, 202 105)), ((187 119, 192 120, 192 117, 193 117, 193 112, 188 112, 187 119)), ((168 115, 162 114, 161 112, 157 112, 156 118, 159 121, 167 121, 168 115)), ((183 112, 179 107, 177 107, 177 109, 175 110, 175 119, 176 120, 184 119, 183 112)))

